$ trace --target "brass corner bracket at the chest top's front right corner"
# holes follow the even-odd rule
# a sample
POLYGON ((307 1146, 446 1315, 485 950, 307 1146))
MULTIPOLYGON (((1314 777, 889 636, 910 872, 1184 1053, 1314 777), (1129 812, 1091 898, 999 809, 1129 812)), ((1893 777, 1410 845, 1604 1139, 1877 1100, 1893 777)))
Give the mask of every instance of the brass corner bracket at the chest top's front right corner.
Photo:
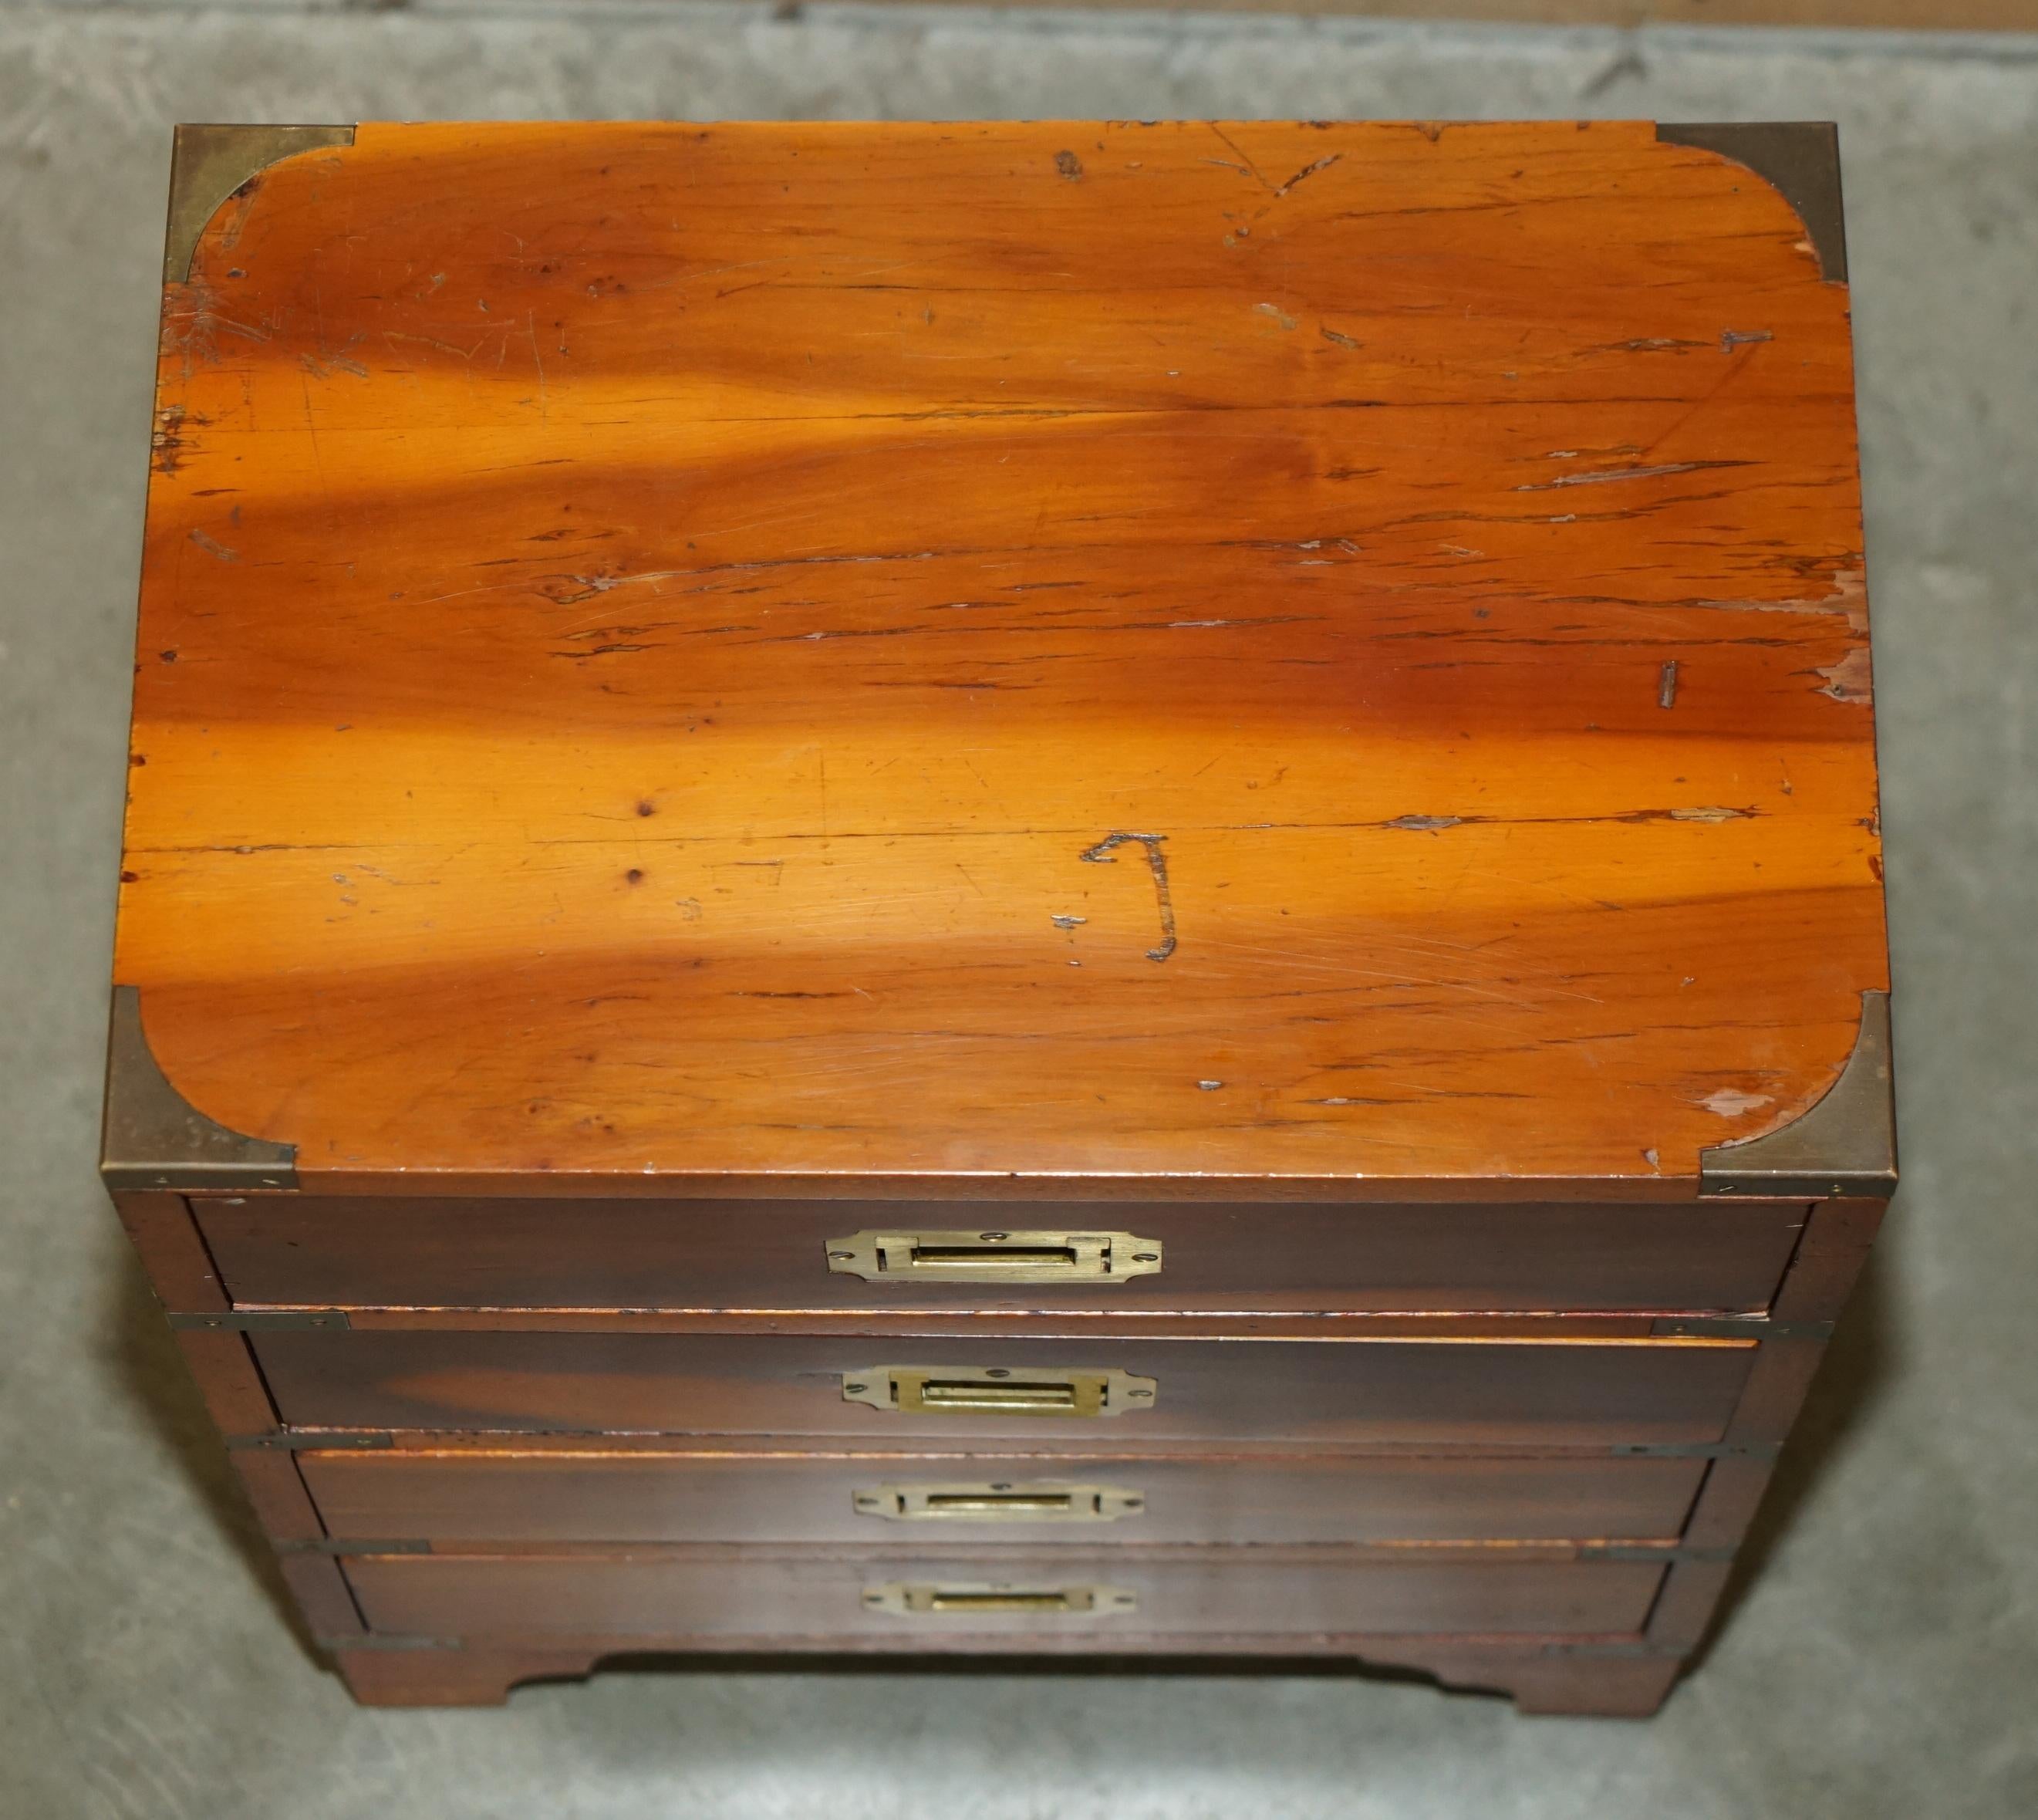
POLYGON ((1897 1186, 1889 995, 1861 995, 1861 1031, 1840 1078, 1787 1125, 1698 1154, 1700 1194, 1830 1194, 1887 1200, 1897 1186))

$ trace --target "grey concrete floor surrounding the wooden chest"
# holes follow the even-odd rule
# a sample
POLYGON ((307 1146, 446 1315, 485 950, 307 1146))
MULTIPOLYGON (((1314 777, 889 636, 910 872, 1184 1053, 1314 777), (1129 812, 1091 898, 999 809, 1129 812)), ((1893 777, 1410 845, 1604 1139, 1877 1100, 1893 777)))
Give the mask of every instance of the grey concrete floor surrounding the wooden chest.
POLYGON ((0 1814, 2038 1814, 2034 296, 2038 39, 0 4, 0 1814), (173 120, 434 114, 1842 122, 1908 1174, 1657 1722, 891 1667, 369 1714, 306 1659, 92 1178, 157 245, 173 120))

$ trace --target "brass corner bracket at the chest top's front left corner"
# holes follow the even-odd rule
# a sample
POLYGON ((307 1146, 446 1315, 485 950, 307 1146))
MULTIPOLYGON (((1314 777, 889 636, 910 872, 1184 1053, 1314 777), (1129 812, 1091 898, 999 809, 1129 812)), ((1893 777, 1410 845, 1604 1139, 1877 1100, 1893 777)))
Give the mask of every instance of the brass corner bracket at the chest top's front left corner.
POLYGON ((296 1188, 298 1145, 243 1137, 200 1113, 149 1050, 141 988, 114 986, 100 1178, 114 1194, 296 1188))

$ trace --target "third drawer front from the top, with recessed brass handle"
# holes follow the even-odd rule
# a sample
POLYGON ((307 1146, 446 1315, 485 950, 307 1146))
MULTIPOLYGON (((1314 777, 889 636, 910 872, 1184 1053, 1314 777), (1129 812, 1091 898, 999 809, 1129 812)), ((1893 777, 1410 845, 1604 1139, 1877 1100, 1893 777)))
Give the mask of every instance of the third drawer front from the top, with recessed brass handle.
POLYGON ((326 1533, 432 1543, 1673 1541, 1702 1459, 473 1449, 298 1455, 326 1533))

